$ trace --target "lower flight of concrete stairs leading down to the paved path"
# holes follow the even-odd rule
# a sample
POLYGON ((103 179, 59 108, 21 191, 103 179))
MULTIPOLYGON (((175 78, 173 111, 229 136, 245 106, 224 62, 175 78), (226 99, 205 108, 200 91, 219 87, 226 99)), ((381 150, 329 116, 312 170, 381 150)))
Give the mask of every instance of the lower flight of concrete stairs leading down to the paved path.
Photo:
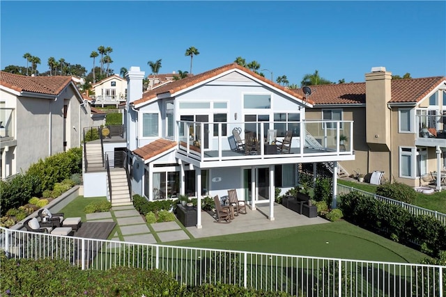
MULTIPOLYGON (((112 184, 112 207, 120 205, 132 205, 128 189, 127 175, 124 168, 110 169, 110 181, 112 184)), ((107 176, 108 188, 108 176, 107 176)), ((110 195, 110 192, 109 192, 110 195)))

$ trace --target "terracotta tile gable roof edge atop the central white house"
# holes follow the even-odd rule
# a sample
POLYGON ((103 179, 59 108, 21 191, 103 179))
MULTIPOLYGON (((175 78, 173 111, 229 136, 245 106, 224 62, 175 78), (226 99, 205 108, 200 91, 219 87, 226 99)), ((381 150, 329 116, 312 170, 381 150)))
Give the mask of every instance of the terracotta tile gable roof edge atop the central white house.
MULTIPOLYGON (((259 74, 256 74, 255 72, 252 72, 251 70, 242 67, 238 65, 237 63, 231 63, 224 65, 222 67, 217 67, 213 70, 209 70, 197 75, 194 75, 192 77, 186 77, 185 79, 180 79, 178 81, 172 81, 171 83, 167 83, 164 86, 160 86, 159 88, 155 88, 153 90, 148 90, 146 93, 143 94, 141 99, 135 100, 132 102, 132 104, 137 105, 144 102, 148 102, 151 99, 155 99, 157 95, 164 94, 164 93, 170 93, 171 95, 174 93, 177 93, 180 90, 184 90, 185 88, 190 88, 198 83, 202 83, 203 81, 206 81, 208 79, 212 79, 213 77, 216 77, 219 74, 222 74, 229 70, 241 70, 243 72, 246 72, 247 74, 252 75, 253 77, 256 77, 256 79, 259 79, 263 81, 264 83, 269 84, 270 86, 273 86, 275 88, 278 88, 279 90, 284 91, 285 93, 293 96, 298 97, 298 99, 303 99, 302 95, 298 95, 297 93, 293 92, 293 90, 290 90, 289 88, 285 88, 284 86, 280 86, 277 83, 274 83, 270 81, 269 79, 266 79, 265 77, 261 77, 259 74)), ((313 104, 312 100, 307 100, 310 104, 313 104)))

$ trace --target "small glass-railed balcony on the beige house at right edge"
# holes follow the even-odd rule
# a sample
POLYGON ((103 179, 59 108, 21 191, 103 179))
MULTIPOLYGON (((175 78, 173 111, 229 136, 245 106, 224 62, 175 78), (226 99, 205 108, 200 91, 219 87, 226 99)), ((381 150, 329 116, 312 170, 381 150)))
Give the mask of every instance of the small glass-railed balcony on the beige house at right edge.
MULTIPOLYGON (((417 111, 420 113, 420 111, 417 111)), ((424 111, 416 115, 416 145, 446 147, 446 111, 424 111)))

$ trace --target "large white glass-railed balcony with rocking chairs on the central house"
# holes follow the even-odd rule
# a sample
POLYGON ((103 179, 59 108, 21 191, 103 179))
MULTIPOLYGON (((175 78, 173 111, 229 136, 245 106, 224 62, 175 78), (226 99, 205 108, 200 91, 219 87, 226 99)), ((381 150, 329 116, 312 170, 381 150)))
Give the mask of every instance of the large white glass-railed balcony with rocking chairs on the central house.
MULTIPOLYGON (((314 161, 353 160, 353 122, 302 120, 300 122, 178 122, 178 154, 201 168, 272 165, 314 161), (254 134, 255 149, 238 150, 233 129, 247 141, 254 134), (268 130, 277 136, 268 139, 268 130), (277 148, 286 131, 292 132, 291 148, 277 148), (345 139, 346 138, 346 139, 345 139), (339 140, 339 141, 338 141, 339 140), (199 163, 199 164, 198 164, 199 163)), ((245 143, 247 145, 247 143, 245 143)))

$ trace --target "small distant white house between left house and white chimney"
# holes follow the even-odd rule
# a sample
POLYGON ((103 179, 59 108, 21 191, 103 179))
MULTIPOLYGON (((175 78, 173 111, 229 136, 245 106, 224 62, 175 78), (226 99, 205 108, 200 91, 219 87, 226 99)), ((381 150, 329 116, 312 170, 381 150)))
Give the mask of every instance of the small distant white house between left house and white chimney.
POLYGON ((94 95, 90 95, 95 106, 116 105, 125 102, 127 98, 127 81, 118 75, 112 75, 91 86, 94 95))

